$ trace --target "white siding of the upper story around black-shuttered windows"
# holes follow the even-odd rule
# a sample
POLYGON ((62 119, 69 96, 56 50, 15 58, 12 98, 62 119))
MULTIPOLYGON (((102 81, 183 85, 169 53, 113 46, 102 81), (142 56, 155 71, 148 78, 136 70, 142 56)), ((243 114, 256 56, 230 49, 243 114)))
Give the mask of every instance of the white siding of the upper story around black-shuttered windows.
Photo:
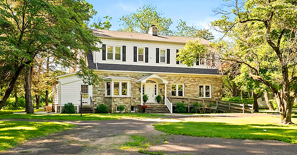
MULTIPOLYGON (((130 64, 130 65, 150 65, 150 66, 167 66, 167 67, 187 67, 183 64, 176 64, 176 50, 181 49, 185 46, 185 44, 177 44, 177 43, 162 43, 162 42, 148 42, 148 41, 133 41, 133 40, 120 40, 120 39, 106 39, 101 38, 102 44, 106 44, 107 46, 126 46, 126 61, 120 60, 102 60, 102 50, 100 52, 96 51, 93 52, 94 55, 94 63, 116 63, 116 64, 130 64), (133 62, 133 54, 134 49, 133 47, 149 47, 149 63, 145 62, 133 62), (170 64, 167 63, 156 63, 156 48, 159 49, 170 49, 170 64)), ((97 45, 101 47, 101 44, 97 45)), ((121 51, 122 52, 122 51, 121 51)), ((106 49, 107 55, 107 49, 106 49)), ((122 59, 121 55, 121 59, 122 59)), ((167 51, 166 57, 167 61, 167 51)), ((138 60, 138 58, 137 58, 138 60)), ((144 60, 145 60, 145 52, 144 52, 144 60)), ((160 59, 159 59, 160 61, 160 59)), ((194 64, 195 68, 207 68, 206 65, 196 65, 194 64)))

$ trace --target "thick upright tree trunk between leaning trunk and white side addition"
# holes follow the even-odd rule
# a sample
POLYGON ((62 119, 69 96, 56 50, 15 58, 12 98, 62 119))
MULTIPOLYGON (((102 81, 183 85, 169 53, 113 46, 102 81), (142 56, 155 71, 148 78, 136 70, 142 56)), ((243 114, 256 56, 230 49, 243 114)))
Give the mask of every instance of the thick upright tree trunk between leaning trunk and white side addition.
POLYGON ((25 77, 25 105, 26 113, 34 113, 34 108, 32 105, 32 96, 31 96, 31 77, 32 77, 33 67, 27 67, 26 77, 25 77))

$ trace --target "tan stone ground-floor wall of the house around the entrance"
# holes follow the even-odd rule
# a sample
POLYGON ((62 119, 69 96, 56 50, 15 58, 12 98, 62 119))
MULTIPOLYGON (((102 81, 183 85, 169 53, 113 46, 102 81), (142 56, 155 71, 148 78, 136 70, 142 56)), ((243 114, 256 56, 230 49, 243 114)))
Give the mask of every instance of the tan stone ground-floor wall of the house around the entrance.
MULTIPOLYGON (((105 97, 105 82, 102 81, 99 85, 93 87, 93 99, 95 107, 98 104, 105 104, 108 108, 108 112, 116 112, 116 106, 124 105, 125 112, 130 112, 131 106, 136 106, 136 112, 141 112, 140 107, 141 95, 139 88, 141 84, 136 84, 136 81, 147 75, 138 74, 108 74, 99 73, 101 78, 110 76, 123 76, 130 78, 131 81, 131 97, 105 97)), ((198 97, 198 86, 204 84, 211 84, 211 99, 222 99, 222 78, 221 77, 198 77, 198 76, 178 76, 178 75, 159 75, 166 79, 167 84, 167 96, 171 95, 171 84, 184 84, 185 85, 185 97, 198 97)), ((159 95, 164 96, 165 84, 159 84, 159 95)))

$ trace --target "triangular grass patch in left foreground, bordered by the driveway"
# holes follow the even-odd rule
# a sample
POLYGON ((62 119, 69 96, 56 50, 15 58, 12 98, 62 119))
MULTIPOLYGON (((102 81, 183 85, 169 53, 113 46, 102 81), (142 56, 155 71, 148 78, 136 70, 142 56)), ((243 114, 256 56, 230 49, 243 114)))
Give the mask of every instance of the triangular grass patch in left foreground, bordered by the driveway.
POLYGON ((0 121, 0 151, 8 150, 28 139, 46 136, 74 126, 60 122, 0 121))

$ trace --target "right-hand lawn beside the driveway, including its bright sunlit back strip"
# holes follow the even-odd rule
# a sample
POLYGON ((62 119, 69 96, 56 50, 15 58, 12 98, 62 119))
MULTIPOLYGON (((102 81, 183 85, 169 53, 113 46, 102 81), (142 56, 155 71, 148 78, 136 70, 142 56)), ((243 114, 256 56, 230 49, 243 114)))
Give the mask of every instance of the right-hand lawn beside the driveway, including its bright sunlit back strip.
MULTIPOLYGON (((155 124, 155 129, 176 135, 249 140, 276 140, 297 144, 297 125, 280 125, 279 117, 206 118, 198 122, 155 124), (267 130, 264 132, 263 130, 267 130)), ((292 118, 297 122, 296 118, 292 118)))

